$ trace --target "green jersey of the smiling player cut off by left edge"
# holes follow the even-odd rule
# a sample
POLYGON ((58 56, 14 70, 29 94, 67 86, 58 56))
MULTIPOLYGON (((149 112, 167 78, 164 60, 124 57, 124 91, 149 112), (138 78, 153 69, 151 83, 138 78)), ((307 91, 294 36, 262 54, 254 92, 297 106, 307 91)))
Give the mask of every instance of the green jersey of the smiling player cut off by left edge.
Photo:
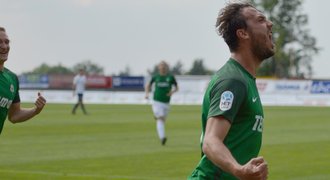
POLYGON ((4 68, 0 71, 0 134, 12 103, 20 102, 17 76, 4 68))

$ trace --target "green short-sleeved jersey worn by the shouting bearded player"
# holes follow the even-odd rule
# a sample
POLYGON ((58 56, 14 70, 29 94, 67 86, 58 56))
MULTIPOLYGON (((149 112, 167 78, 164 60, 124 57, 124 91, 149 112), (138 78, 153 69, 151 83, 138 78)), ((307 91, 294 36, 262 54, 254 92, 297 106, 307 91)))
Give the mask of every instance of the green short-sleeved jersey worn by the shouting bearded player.
MULTIPOLYGON (((230 59, 211 79, 202 107, 201 145, 208 118, 223 116, 231 127, 224 144, 240 164, 258 155, 263 130, 263 109, 255 78, 230 59)), ((189 179, 236 179, 215 166, 202 152, 202 158, 189 179)))

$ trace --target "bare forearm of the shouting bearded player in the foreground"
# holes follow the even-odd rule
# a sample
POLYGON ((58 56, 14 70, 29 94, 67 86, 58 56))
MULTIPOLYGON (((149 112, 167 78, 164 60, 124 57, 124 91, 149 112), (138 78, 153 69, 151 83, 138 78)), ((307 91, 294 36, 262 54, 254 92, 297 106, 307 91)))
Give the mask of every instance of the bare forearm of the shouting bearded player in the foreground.
POLYGON ((234 176, 237 176, 242 167, 223 142, 216 138, 204 138, 203 152, 213 164, 234 176))

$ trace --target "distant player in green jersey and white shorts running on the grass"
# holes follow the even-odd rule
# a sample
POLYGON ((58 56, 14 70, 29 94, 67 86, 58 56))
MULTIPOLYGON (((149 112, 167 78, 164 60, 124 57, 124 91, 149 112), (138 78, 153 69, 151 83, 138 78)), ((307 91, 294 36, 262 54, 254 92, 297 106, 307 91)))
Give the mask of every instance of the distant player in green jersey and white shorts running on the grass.
POLYGON ((156 119, 157 133, 162 145, 166 143, 165 120, 169 111, 169 103, 173 93, 178 91, 175 77, 168 73, 168 65, 162 61, 158 65, 159 74, 154 75, 146 86, 146 99, 149 98, 151 86, 155 83, 152 111, 156 119), (174 86, 174 88, 172 88, 174 86))

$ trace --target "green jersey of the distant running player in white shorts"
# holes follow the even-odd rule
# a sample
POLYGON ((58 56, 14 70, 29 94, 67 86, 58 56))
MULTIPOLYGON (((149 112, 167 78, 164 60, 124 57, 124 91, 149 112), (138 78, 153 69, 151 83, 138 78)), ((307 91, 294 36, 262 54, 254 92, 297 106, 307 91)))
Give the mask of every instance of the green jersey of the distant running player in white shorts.
POLYGON ((172 85, 177 86, 176 79, 173 75, 160 75, 153 76, 150 80, 150 85, 155 83, 154 97, 155 101, 169 103, 171 97, 167 94, 171 91, 172 85))

